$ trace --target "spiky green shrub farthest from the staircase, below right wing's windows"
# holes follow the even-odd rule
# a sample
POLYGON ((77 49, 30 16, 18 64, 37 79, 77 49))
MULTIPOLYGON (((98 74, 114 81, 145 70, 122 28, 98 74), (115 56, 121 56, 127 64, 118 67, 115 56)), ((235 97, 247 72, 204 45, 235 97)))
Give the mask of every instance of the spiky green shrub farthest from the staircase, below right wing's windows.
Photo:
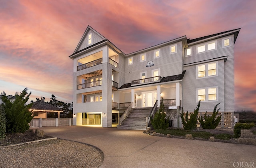
POLYGON ((203 117, 201 116, 200 118, 198 118, 201 126, 203 129, 215 129, 218 124, 220 123, 220 120, 221 120, 221 115, 218 116, 216 119, 215 117, 217 116, 220 108, 218 110, 217 109, 217 106, 219 105, 220 103, 218 103, 215 107, 214 107, 214 110, 213 110, 213 113, 212 113, 212 116, 207 116, 205 112, 204 114, 204 119, 203 117))

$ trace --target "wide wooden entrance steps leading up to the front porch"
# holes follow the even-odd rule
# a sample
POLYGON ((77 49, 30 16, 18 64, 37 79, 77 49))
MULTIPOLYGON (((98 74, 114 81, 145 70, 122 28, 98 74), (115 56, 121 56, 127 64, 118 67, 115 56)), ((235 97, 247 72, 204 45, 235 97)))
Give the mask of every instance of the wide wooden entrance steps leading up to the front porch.
POLYGON ((128 130, 146 130, 146 117, 150 115, 152 107, 132 108, 130 114, 126 117, 123 124, 119 127, 128 130))

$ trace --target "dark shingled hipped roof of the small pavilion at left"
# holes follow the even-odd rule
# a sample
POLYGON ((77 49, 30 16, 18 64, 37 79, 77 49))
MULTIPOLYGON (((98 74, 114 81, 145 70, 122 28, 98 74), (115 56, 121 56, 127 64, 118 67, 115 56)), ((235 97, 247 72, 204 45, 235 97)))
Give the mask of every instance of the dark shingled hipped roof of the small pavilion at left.
POLYGON ((44 102, 42 100, 38 100, 33 103, 32 107, 29 110, 33 111, 43 111, 43 112, 63 112, 62 109, 53 106, 52 104, 49 104, 47 102, 44 102))

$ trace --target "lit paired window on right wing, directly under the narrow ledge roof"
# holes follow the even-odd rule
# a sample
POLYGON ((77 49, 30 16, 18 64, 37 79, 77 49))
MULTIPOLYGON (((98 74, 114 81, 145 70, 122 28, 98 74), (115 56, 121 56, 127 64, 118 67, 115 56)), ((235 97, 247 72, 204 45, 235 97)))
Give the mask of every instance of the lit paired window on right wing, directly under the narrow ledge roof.
POLYGON ((206 64, 200 64, 196 66, 197 76, 196 78, 218 76, 218 62, 209 62, 206 64))

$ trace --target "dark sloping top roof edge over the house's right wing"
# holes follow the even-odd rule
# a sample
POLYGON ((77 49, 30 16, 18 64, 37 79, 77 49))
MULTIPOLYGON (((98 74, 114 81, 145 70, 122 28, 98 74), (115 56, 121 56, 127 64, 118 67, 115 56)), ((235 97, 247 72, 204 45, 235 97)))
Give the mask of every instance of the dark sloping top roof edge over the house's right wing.
POLYGON ((197 41, 201 41, 201 40, 204 40, 204 39, 207 39, 207 38, 212 38, 214 36, 228 36, 230 34, 234 34, 234 44, 236 42, 236 38, 238 36, 238 33, 240 31, 241 28, 238 28, 238 29, 234 29, 234 30, 228 30, 228 31, 225 31, 225 32, 220 32, 220 33, 216 33, 216 34, 212 34, 212 35, 209 35, 209 36, 204 36, 204 37, 200 37, 200 38, 195 38, 195 39, 188 39, 188 44, 190 43, 194 43, 194 42, 197 42, 197 41))

